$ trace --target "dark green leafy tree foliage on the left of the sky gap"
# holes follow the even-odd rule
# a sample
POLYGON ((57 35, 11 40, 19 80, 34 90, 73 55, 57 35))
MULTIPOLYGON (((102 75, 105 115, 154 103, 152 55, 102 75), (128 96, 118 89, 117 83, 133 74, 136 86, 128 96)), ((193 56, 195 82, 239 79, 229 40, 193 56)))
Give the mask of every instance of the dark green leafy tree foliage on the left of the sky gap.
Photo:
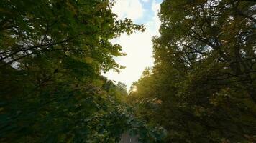
POLYGON ((144 30, 117 20, 113 4, 0 1, 0 142, 118 142, 140 122, 125 85, 100 74, 122 68, 109 40, 144 30))

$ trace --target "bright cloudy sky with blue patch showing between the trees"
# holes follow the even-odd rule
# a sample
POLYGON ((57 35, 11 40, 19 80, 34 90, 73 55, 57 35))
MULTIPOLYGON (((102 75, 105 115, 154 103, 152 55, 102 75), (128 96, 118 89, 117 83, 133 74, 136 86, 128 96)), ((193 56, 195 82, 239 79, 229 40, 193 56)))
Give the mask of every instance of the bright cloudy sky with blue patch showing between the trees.
POLYGON ((120 44, 122 52, 127 56, 114 58, 125 69, 120 73, 109 71, 104 76, 116 82, 127 85, 127 89, 140 79, 146 67, 152 67, 152 36, 159 36, 160 20, 157 16, 162 0, 117 0, 113 12, 118 19, 129 18, 136 24, 144 24, 145 32, 137 31, 134 34, 122 34, 117 39, 112 39, 113 44, 120 44))

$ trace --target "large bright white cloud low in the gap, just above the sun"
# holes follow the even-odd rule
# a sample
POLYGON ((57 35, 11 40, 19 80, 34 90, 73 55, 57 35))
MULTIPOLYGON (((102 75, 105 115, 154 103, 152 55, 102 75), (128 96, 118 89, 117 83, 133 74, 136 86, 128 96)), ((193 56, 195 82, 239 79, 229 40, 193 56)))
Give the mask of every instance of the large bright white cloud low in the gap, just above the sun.
POLYGON ((152 33, 150 31, 137 32, 130 36, 122 34, 114 43, 122 45, 127 56, 121 56, 116 61, 126 66, 121 73, 110 71, 105 74, 109 79, 123 82, 129 88, 132 82, 140 78, 145 67, 153 66, 152 59, 152 33))

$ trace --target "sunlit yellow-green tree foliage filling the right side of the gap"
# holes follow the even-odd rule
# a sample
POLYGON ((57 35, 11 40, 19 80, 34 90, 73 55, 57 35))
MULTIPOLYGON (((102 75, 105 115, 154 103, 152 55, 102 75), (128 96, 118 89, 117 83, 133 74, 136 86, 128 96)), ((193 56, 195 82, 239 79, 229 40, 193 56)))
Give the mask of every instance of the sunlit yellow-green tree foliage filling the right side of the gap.
POLYGON ((134 83, 137 116, 166 142, 255 142, 255 1, 166 0, 155 66, 134 83))

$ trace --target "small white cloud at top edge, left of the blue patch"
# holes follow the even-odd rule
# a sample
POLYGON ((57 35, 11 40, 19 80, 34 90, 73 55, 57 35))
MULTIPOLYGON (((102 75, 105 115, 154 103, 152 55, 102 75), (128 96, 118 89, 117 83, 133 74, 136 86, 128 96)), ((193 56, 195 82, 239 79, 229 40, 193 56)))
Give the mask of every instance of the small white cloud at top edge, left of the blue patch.
POLYGON ((142 18, 145 9, 139 0, 118 0, 112 11, 117 14, 119 19, 128 17, 132 21, 142 18))

